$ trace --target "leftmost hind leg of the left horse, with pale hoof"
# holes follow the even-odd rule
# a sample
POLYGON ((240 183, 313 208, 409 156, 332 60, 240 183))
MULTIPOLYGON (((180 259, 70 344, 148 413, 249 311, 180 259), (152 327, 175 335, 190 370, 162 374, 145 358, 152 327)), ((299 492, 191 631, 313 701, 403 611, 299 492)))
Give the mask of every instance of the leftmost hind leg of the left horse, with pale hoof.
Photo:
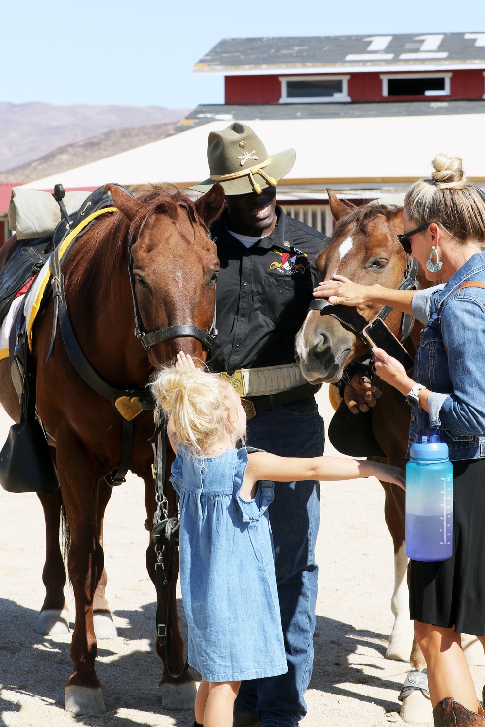
POLYGON ((46 597, 39 614, 36 632, 49 636, 69 631, 69 609, 64 598, 64 559, 59 544, 63 496, 60 489, 57 489, 52 494, 39 494, 38 497, 44 509, 46 523, 46 560, 42 571, 46 597))

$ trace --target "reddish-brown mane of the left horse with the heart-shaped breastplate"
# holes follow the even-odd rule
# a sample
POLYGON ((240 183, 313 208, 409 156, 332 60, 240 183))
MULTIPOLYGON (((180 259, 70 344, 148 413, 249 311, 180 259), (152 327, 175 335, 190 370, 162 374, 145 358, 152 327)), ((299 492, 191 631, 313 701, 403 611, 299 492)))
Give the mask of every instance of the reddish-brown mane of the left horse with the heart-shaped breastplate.
POLYGON ((127 271, 129 240, 140 234, 152 214, 167 214, 177 220, 180 210, 185 211, 194 228, 194 240, 196 225, 207 230, 184 190, 150 185, 150 189, 135 196, 141 205, 131 223, 121 212, 102 214, 77 236, 63 261, 67 291, 82 289, 87 298, 96 294, 99 300, 108 300, 105 296, 119 287, 127 271))

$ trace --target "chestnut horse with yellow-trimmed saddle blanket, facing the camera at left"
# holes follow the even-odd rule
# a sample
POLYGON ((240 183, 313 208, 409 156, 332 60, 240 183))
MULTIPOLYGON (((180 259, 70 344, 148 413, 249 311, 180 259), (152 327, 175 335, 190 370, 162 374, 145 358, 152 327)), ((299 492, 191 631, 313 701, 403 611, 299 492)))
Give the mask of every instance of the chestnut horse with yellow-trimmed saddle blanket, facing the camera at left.
MULTIPOLYGON (((129 243, 134 240, 131 252, 135 294, 145 331, 179 325, 208 331, 214 318, 219 270, 208 226, 221 212, 224 193, 220 185, 214 185, 194 203, 180 190, 172 194, 153 187, 133 197, 117 185, 107 185, 106 189, 111 192, 117 211, 93 220, 63 260, 65 302, 76 337, 97 373, 114 387, 138 388, 148 383, 158 366, 175 361, 179 350, 202 360, 207 351, 195 337, 172 337, 154 344, 148 351, 135 338, 129 243)), ((15 246, 15 240, 4 246, 3 262, 15 246)), ((53 309, 51 300, 39 313, 32 351, 37 412, 49 433, 49 444, 55 446, 60 480, 60 492, 41 497, 47 526, 47 595, 43 608, 60 612, 65 607, 65 573, 58 542, 62 497, 71 531, 68 573, 76 603, 71 641, 73 673, 65 687, 66 708, 79 715, 93 714, 105 711, 95 672, 97 647, 93 625, 93 607, 108 611, 104 598, 102 527, 111 489, 104 477, 120 464, 122 422, 111 401, 89 387, 73 368, 60 332, 52 356, 46 361, 53 309)), ((18 421, 20 410, 8 359, 0 361, 0 391, 7 413, 18 421)), ((129 465, 145 481, 148 523, 153 521, 156 507, 151 473, 153 452, 148 442, 153 427, 149 411, 135 419, 129 465)), ((153 582, 155 562, 151 544, 147 549, 147 567, 153 582)), ((173 667, 180 671, 183 641, 176 614, 172 643, 173 667)), ((156 646, 162 656, 158 641, 156 646)), ((161 685, 169 688, 174 681, 164 664, 161 685)), ((190 672, 185 672, 177 682, 177 691, 184 686, 189 688, 193 701, 196 689, 190 672)))

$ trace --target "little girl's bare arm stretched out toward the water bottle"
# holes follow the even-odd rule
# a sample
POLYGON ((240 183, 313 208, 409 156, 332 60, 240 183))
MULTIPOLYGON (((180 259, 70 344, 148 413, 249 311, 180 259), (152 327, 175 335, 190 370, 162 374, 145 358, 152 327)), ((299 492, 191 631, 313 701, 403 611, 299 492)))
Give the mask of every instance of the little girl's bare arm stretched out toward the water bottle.
POLYGON ((361 477, 377 477, 384 482, 395 483, 405 489, 404 470, 380 462, 344 457, 277 457, 268 452, 252 452, 244 475, 241 497, 252 493, 258 480, 292 482, 294 480, 353 480, 361 477))

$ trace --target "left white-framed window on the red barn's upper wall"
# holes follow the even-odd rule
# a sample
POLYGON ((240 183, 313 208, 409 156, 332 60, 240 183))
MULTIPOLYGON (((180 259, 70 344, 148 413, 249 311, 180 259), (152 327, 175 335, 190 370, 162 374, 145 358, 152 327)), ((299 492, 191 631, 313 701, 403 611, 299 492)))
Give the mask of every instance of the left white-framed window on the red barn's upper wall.
POLYGON ((350 101, 350 76, 279 76, 279 103, 335 103, 350 101))

